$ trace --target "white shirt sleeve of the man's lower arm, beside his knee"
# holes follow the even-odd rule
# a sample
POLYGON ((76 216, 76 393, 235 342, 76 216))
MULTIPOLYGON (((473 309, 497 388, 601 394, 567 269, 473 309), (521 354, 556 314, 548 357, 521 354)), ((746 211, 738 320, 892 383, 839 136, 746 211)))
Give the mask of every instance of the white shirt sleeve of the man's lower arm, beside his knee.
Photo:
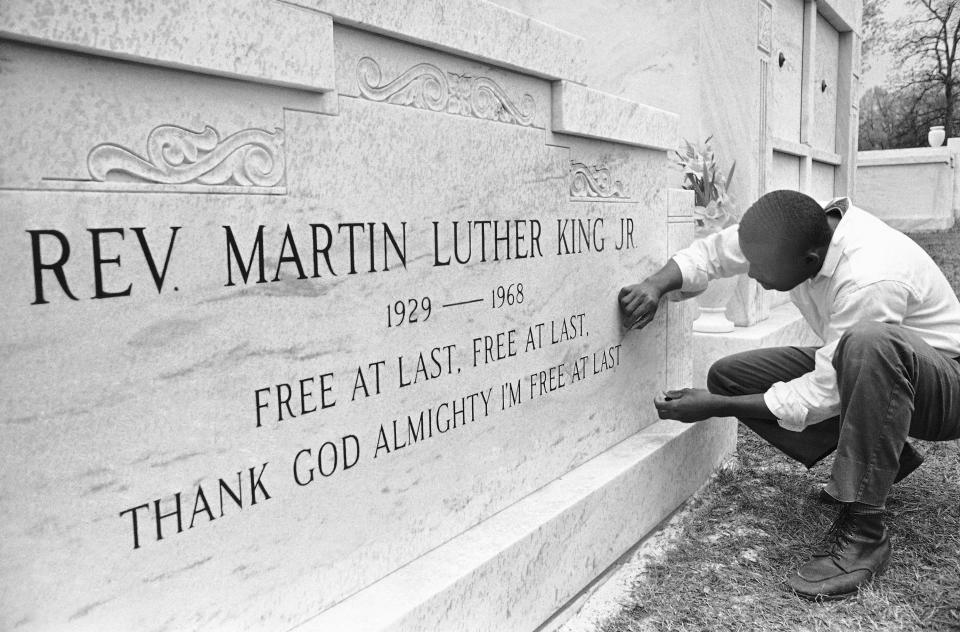
POLYGON ((817 350, 814 369, 789 382, 777 382, 763 395, 781 426, 801 431, 840 414, 840 392, 833 355, 844 332, 859 322, 899 325, 910 301, 911 288, 899 281, 878 281, 838 295, 817 350))

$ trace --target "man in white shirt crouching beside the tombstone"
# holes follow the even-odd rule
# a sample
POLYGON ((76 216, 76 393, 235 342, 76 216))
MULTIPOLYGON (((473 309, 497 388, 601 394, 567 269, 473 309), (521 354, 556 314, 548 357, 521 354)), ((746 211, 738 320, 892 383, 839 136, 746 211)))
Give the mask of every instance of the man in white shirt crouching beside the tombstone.
POLYGON ((789 583, 808 598, 855 593, 890 560, 884 503, 922 461, 907 438, 960 438, 960 302, 918 245, 846 198, 824 208, 774 191, 739 226, 621 289, 623 324, 647 325, 667 292, 743 272, 789 291, 824 345, 722 358, 707 390, 668 391, 654 405, 661 419, 738 417, 807 467, 836 451, 820 498, 839 514, 789 583))

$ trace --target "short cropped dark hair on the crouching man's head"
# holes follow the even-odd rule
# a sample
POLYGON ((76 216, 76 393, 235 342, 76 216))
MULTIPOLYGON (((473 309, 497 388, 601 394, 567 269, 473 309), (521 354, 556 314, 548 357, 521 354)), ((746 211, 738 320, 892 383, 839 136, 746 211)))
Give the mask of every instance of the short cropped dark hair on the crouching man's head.
POLYGON ((804 252, 830 243, 823 207, 798 191, 771 191, 753 203, 740 220, 740 239, 804 252))

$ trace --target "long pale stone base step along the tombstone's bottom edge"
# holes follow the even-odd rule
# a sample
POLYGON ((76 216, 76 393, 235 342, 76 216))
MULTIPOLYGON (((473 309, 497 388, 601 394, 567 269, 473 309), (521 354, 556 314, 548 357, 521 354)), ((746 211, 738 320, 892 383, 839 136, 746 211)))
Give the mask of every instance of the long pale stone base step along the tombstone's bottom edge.
POLYGON ((533 630, 732 453, 736 426, 661 421, 298 630, 533 630))

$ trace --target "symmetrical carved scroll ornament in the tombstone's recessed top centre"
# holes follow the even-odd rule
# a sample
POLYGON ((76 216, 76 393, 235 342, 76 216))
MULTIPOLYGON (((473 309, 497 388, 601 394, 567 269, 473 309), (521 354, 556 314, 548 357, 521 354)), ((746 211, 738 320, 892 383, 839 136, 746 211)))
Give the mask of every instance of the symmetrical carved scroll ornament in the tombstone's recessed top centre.
POLYGON ((516 105, 498 83, 487 77, 444 72, 433 64, 417 64, 392 81, 383 80, 380 66, 370 57, 357 63, 360 94, 371 101, 447 112, 460 116, 533 125, 536 102, 524 94, 516 105))

